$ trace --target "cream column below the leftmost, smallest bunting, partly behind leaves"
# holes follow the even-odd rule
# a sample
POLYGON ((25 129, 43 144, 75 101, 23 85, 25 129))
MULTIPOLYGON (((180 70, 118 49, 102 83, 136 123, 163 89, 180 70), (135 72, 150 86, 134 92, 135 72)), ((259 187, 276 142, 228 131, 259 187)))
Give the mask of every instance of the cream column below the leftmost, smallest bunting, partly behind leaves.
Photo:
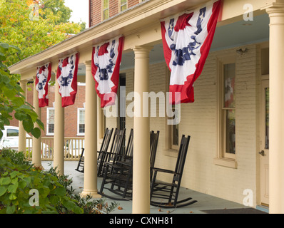
MULTIPOLYGON (((39 108, 39 95, 36 90, 36 77, 34 77, 34 89, 33 89, 33 103, 34 103, 34 111, 38 115, 39 120, 41 120, 41 108, 39 108)), ((35 123, 35 127, 39 128, 39 125, 35 123)), ((35 138, 33 137, 33 152, 32 152, 32 163, 36 167, 42 167, 41 165, 41 137, 35 138)))

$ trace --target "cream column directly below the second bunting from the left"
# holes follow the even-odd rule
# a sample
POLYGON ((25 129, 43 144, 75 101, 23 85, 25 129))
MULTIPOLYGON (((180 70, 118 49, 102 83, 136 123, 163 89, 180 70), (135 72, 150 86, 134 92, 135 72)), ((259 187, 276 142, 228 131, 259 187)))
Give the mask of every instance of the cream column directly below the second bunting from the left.
POLYGON ((54 104, 54 167, 57 167, 59 175, 64 175, 64 108, 57 80, 55 80, 54 104))

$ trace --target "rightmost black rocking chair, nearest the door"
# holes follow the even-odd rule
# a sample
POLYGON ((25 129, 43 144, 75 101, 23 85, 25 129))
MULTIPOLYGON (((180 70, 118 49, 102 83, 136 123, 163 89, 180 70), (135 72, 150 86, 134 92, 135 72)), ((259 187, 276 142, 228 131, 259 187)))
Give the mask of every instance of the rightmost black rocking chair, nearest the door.
POLYGON ((186 153, 188 151, 188 144, 190 136, 181 138, 181 145, 178 151, 178 159, 176 161, 176 169, 164 170, 154 167, 152 169, 153 177, 151 178, 151 205, 163 208, 178 208, 185 207, 197 202, 191 200, 192 198, 182 199, 178 201, 178 193, 181 187, 181 177, 183 175, 183 167, 186 162, 186 153), (158 172, 164 172, 173 175, 173 181, 171 183, 158 182, 156 180, 158 172), (155 202, 153 198, 167 199, 166 202, 155 202))

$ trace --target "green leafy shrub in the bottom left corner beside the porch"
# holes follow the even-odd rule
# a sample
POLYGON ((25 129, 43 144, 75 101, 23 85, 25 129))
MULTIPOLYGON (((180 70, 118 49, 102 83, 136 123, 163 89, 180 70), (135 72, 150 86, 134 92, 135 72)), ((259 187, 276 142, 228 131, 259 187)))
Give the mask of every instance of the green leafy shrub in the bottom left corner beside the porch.
POLYGON ((0 151, 0 214, 99 214, 116 207, 74 195, 71 183, 56 168, 45 172, 34 167, 22 152, 0 151))

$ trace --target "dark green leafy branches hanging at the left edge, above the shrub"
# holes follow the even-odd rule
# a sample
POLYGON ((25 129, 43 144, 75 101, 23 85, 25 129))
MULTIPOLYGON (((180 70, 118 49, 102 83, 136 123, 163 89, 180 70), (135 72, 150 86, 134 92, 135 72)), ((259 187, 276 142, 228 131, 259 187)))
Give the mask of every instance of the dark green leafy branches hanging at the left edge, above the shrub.
POLYGON ((34 123, 38 123, 40 128, 44 130, 44 124, 38 119, 38 115, 34 112, 34 108, 25 101, 21 93, 24 91, 11 79, 7 66, 3 63, 6 61, 6 53, 14 49, 20 51, 16 46, 7 43, 0 43, 0 138, 2 138, 4 125, 10 125, 9 120, 14 117, 22 121, 24 129, 27 133, 31 133, 34 137, 39 138, 41 130, 34 128, 34 123))

